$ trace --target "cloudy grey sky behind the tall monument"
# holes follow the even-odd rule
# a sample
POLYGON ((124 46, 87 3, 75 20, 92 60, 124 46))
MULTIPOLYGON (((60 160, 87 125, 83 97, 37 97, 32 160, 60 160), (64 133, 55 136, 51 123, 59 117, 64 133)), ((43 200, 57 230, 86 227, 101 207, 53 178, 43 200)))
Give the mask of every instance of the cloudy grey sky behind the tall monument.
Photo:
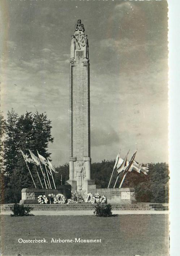
POLYGON ((70 39, 89 39, 91 158, 138 149, 168 161, 167 2, 6 0, 1 3, 1 111, 46 112, 54 165, 69 160, 70 39), (1 22, 2 24, 2 22, 1 22))

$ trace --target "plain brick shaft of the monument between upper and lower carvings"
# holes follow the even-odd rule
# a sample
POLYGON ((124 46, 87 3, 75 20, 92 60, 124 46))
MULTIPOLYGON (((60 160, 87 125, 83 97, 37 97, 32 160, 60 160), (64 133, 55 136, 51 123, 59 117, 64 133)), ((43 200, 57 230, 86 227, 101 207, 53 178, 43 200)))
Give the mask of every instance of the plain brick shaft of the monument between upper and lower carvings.
POLYGON ((83 51, 70 63, 70 157, 90 157, 90 74, 83 51))

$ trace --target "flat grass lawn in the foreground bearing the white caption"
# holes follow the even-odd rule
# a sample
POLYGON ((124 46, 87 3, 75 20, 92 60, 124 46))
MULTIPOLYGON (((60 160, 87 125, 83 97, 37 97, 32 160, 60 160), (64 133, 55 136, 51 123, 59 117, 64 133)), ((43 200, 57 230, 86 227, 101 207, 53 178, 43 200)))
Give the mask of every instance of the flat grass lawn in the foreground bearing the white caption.
POLYGON ((168 253, 168 215, 1 216, 2 256, 120 255, 168 253), (18 239, 47 243, 18 243, 18 239), (101 243, 51 243, 54 239, 101 239, 101 243))

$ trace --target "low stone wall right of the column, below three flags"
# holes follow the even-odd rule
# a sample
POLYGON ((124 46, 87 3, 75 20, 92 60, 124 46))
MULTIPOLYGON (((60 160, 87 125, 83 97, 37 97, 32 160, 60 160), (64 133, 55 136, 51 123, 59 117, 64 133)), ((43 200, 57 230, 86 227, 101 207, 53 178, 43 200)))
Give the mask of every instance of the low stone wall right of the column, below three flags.
POLYGON ((135 204, 134 188, 99 188, 97 185, 89 185, 88 193, 99 193, 101 196, 107 197, 110 204, 135 204))

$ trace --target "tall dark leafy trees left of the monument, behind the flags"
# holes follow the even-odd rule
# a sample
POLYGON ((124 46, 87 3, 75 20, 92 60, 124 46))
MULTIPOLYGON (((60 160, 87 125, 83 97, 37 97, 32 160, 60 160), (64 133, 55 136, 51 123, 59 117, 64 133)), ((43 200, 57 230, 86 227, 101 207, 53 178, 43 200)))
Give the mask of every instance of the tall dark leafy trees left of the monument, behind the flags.
MULTIPOLYGON (((1 115, 1 162, 0 185, 1 202, 19 202, 21 189, 34 187, 30 173, 20 149, 29 154, 30 149, 37 155, 36 150, 44 157, 49 157, 48 143, 53 142, 51 136, 51 121, 46 114, 26 112, 19 116, 13 109, 8 111, 7 119, 1 115)), ((40 182, 36 166, 29 164, 29 168, 37 187, 40 182)), ((39 175, 42 175, 39 172, 39 175)), ((42 177, 41 177, 42 178, 42 177)))

